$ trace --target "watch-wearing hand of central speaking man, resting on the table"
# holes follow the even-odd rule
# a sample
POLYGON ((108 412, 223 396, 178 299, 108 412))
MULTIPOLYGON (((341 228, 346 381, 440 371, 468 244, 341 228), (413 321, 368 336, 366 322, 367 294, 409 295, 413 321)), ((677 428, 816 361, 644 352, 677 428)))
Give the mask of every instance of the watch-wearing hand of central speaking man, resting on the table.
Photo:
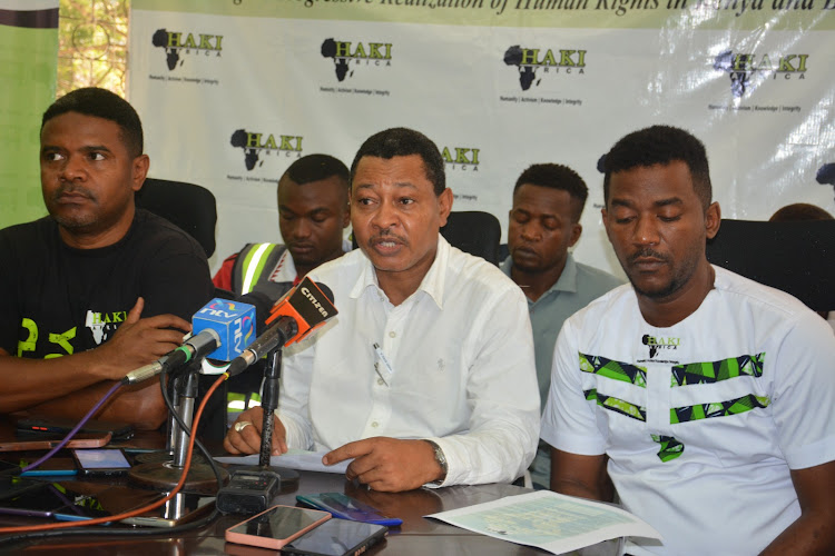
POLYGON ((322 463, 334 465, 352 458, 354 460, 345 476, 380 492, 399 493, 420 488, 443 475, 441 465, 435 461, 435 450, 426 440, 397 440, 382 436, 366 438, 325 454, 322 463))

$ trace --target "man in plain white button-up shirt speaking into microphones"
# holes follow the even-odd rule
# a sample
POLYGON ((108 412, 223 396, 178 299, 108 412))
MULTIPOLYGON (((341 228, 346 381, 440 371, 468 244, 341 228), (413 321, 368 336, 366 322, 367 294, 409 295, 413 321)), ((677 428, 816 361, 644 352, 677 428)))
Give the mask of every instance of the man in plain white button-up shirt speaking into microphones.
MULTIPOLYGON (((353 459, 347 478, 375 490, 513 480, 539 437, 524 296, 439 234, 452 191, 429 138, 372 136, 351 179, 360 249, 310 275, 340 314, 285 351, 274 454, 331 450, 326 465, 353 459)), ((242 414, 226 449, 257 453, 261 423, 242 414)))

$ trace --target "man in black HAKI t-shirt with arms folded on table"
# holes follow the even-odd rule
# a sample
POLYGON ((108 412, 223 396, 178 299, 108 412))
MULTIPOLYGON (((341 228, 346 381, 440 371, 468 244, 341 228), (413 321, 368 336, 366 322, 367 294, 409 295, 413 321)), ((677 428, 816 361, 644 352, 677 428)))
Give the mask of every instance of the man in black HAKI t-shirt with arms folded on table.
MULTIPOLYGON (((43 113, 40 143, 50 216, 0 230, 0 413, 79 418, 179 346, 214 288, 199 245, 135 207, 149 160, 128 102, 70 92, 43 113)), ((97 417, 157 428, 166 415, 148 380, 97 417)))

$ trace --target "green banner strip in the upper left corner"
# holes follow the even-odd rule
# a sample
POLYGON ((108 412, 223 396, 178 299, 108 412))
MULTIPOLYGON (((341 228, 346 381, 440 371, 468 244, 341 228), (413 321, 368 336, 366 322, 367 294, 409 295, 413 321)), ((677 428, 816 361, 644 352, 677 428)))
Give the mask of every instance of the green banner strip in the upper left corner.
POLYGON ((0 0, 0 228, 47 214, 39 133, 57 66, 58 0, 0 0))

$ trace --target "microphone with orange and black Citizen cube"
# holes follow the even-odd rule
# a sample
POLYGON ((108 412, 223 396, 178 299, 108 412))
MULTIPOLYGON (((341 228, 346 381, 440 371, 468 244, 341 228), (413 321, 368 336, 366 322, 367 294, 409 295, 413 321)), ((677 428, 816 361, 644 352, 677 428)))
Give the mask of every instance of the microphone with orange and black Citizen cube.
POLYGON ((337 312, 331 288, 305 277, 276 304, 266 320, 267 329, 233 359, 226 373, 229 377, 243 373, 268 351, 306 338, 337 312))

